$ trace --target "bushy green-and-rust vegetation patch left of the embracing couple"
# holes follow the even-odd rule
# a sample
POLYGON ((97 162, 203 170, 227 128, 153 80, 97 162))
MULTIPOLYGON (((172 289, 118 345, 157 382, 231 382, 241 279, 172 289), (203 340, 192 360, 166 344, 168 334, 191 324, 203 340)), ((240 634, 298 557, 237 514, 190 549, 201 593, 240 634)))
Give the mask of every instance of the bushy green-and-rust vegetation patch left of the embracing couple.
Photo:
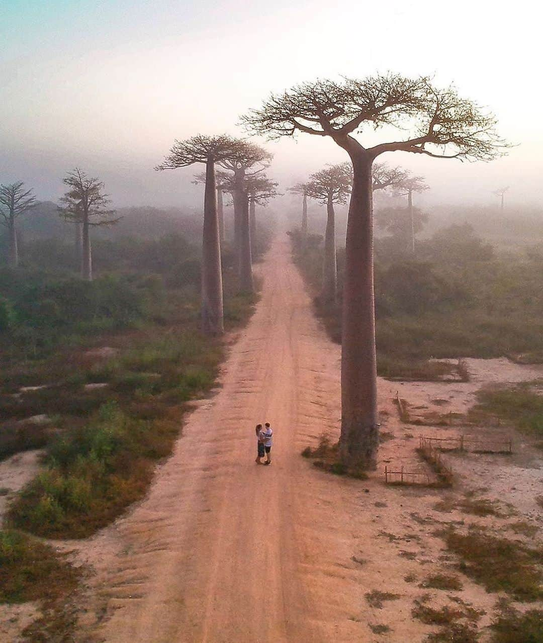
POLYGON ((114 402, 52 442, 46 468, 15 499, 14 527, 47 538, 85 538, 143 496, 154 463, 170 453, 174 422, 137 421, 114 402))

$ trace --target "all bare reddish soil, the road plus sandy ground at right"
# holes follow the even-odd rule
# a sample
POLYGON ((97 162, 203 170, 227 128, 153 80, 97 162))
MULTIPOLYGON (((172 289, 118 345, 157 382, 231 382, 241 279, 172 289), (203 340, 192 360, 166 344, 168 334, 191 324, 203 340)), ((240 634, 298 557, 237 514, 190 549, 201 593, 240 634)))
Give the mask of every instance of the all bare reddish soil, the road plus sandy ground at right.
POLYGON ((542 462, 515 436, 511 456, 450 455, 452 490, 385 486, 385 464, 421 466, 419 435, 463 431, 457 424, 405 424, 394 397, 399 391, 412 408, 427 407, 421 412, 465 413, 486 383, 534 379, 543 367, 470 359, 468 383, 380 380, 389 439, 378 469, 365 481, 333 476, 300 452, 323 431, 338 438, 340 347, 311 312, 286 235, 273 243, 261 274, 261 302, 232 338, 220 390, 195 404, 147 498, 95 538, 62 545, 95 571, 75 640, 418 643, 437 629, 412 617, 425 593, 425 605, 434 608, 457 608, 461 599, 484 611, 478 626, 488 640, 497 595, 457 571, 436 530, 477 523, 528 538, 508 525, 541 527, 535 496, 542 493, 542 462), (268 467, 254 460, 254 426, 264 421, 275 431, 268 467), (475 489, 506 507, 507 517, 457 509, 454 501, 475 489), (448 512, 435 509, 444 499, 453 507, 448 512), (432 574, 459 575, 463 589, 420 588, 432 574), (369 601, 365 595, 374 590, 397 597, 369 601))

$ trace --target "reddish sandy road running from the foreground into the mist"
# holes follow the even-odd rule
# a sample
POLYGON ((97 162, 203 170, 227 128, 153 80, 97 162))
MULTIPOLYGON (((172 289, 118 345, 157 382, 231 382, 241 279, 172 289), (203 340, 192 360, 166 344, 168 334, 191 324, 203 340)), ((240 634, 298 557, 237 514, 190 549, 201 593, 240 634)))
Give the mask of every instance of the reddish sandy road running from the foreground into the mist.
POLYGON ((299 453, 308 434, 337 421, 338 354, 311 314, 286 235, 262 275, 221 391, 192 413, 148 498, 118 523, 127 556, 106 582, 104 640, 328 638, 304 571, 308 496, 299 491, 309 472, 299 453), (275 429, 270 467, 254 462, 259 421, 275 429))

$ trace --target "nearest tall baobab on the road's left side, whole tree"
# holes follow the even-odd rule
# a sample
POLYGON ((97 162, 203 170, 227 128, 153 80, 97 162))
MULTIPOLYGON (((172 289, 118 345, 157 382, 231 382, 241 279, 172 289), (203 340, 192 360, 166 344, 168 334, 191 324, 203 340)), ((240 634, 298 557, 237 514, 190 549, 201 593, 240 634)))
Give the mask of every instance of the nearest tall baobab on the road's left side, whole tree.
POLYGON ((243 143, 230 136, 198 134, 185 141, 175 141, 170 153, 156 170, 172 170, 194 163, 205 165, 204 220, 201 265, 202 330, 206 334, 224 332, 223 274, 221 242, 217 214, 215 165, 239 152, 243 143))

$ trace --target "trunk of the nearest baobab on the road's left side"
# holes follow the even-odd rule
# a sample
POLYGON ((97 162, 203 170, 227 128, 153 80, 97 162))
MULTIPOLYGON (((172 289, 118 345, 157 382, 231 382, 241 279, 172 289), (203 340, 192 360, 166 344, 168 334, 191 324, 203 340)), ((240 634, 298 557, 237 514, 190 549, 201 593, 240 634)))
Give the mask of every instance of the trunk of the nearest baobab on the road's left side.
POLYGON ((202 239, 202 331, 221 334, 223 324, 223 275, 221 241, 215 188, 215 161, 208 159, 205 168, 204 221, 202 239))

